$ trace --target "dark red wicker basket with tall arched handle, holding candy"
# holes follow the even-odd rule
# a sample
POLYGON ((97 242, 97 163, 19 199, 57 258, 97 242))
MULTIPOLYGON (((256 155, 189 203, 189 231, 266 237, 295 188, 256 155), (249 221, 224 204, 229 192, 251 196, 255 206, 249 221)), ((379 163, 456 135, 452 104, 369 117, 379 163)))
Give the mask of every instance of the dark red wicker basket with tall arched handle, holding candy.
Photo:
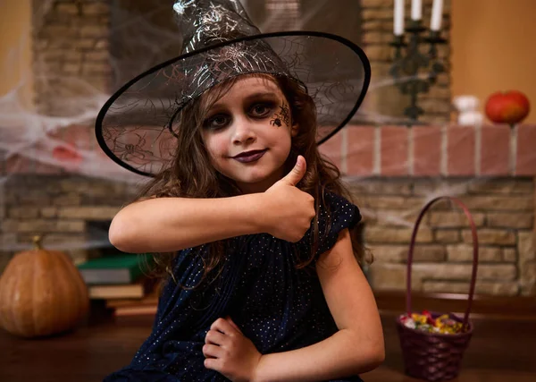
MULTIPOLYGON (((469 224, 471 225, 471 230, 473 233, 473 275, 471 276, 469 299, 467 303, 467 310, 465 310, 465 317, 462 319, 454 314, 448 313, 450 318, 463 323, 461 333, 428 333, 422 330, 404 326, 400 320, 400 317, 398 317, 396 320, 406 374, 408 376, 421 378, 427 381, 445 381, 456 378, 459 373, 462 358, 464 357, 465 349, 467 348, 469 341, 471 340, 471 336, 473 335, 473 325, 469 321, 469 312, 471 311, 471 305, 473 303, 474 283, 476 280, 476 270, 478 264, 478 238, 473 217, 469 213, 468 208, 466 208, 465 205, 456 198, 443 196, 432 199, 428 204, 426 204, 421 211, 421 214, 417 217, 407 259, 406 312, 407 314, 412 313, 411 267, 417 230, 426 211, 431 208, 432 204, 441 199, 449 199, 454 201, 464 210, 465 216, 467 216, 469 219, 469 224)), ((431 312, 431 317, 438 318, 442 314, 445 313, 431 312)))

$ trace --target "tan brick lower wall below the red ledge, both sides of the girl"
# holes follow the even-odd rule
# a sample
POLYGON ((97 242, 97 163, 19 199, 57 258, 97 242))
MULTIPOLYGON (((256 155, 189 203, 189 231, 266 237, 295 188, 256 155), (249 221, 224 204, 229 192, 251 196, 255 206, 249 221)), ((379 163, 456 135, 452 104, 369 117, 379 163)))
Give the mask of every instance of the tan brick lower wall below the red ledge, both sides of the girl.
MULTIPOLYGON (((111 164, 111 166, 114 166, 111 164)), ((478 228, 477 293, 536 295, 536 185, 532 177, 347 178, 364 216, 364 242, 373 251, 367 274, 375 289, 405 288, 406 258, 415 219, 439 195, 455 195, 478 228)), ((13 174, 3 184, 0 270, 17 247, 46 233, 75 261, 87 259, 88 222, 111 220, 135 187, 114 181, 52 174, 13 174)), ((106 233, 101 233, 104 242, 106 233)), ((423 219, 414 262, 414 288, 464 293, 471 272, 471 236, 460 210, 440 203, 423 219)))

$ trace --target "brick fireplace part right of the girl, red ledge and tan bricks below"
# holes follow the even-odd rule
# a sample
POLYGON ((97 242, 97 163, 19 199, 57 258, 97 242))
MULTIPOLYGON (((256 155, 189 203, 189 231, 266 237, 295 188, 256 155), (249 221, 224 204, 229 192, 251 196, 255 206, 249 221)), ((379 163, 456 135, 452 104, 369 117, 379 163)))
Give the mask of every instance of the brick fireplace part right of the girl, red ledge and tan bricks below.
MULTIPOLYGON (((364 215, 371 282, 403 289, 415 220, 425 203, 449 195, 471 210, 480 246, 476 293, 536 295, 536 126, 349 126, 321 147, 346 175, 364 215)), ((424 217, 413 285, 466 293, 472 238, 448 203, 424 217)))

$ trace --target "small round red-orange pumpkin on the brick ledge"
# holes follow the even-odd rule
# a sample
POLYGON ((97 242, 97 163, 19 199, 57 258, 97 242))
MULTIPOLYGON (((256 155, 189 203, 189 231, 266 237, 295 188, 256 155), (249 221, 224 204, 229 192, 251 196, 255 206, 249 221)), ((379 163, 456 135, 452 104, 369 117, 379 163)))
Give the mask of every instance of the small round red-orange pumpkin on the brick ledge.
POLYGON ((530 110, 529 99, 516 90, 493 93, 486 101, 486 115, 494 123, 520 123, 530 110))

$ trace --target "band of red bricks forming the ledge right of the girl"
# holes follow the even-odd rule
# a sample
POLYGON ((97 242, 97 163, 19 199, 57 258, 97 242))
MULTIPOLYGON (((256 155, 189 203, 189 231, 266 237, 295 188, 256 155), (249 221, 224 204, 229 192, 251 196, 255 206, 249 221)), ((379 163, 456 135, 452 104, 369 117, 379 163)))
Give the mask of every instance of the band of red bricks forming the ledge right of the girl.
POLYGON ((534 176, 536 125, 354 126, 320 147, 344 174, 534 176))

